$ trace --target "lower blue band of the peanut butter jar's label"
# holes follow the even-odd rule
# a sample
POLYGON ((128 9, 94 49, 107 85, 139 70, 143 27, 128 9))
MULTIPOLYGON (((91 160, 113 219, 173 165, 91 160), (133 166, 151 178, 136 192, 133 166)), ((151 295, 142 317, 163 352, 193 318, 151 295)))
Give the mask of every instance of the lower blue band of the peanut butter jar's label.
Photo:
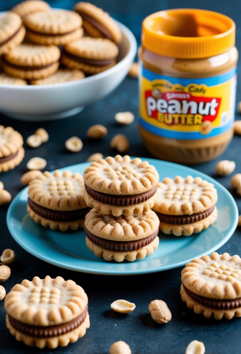
POLYGON ((166 130, 166 129, 161 129, 158 128, 157 126, 151 125, 147 123, 144 119, 139 117, 139 124, 149 132, 162 136, 164 138, 171 138, 171 139, 182 139, 182 140, 194 140, 194 139, 203 139, 203 138, 211 138, 212 136, 219 135, 221 133, 224 133, 225 131, 231 129, 233 127, 233 121, 229 122, 227 125, 223 127, 217 127, 213 128, 210 133, 208 133, 207 136, 202 135, 200 132, 175 132, 173 130, 166 130))

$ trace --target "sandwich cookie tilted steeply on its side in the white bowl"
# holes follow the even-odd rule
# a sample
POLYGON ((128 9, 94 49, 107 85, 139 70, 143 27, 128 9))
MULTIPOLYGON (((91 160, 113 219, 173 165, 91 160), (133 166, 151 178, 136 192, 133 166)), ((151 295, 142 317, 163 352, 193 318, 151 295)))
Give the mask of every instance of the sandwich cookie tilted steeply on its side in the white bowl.
POLYGON ((90 37, 108 38, 119 44, 121 32, 116 22, 107 12, 89 2, 78 2, 74 10, 83 19, 83 28, 90 37))

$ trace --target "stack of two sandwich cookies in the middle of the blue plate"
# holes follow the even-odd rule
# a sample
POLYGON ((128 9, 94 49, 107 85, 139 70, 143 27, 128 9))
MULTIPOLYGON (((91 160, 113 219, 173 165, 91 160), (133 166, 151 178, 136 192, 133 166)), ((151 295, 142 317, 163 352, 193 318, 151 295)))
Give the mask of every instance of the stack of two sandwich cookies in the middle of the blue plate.
POLYGON ((108 156, 83 174, 84 198, 94 208, 86 215, 87 247, 98 257, 117 262, 143 259, 159 244, 155 201, 157 170, 147 161, 108 156))

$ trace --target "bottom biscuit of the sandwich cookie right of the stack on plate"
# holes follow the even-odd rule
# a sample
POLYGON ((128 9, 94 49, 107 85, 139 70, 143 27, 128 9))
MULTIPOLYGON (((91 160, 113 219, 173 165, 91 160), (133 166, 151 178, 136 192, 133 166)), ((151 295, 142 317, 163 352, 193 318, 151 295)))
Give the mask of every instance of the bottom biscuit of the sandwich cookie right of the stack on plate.
POLYGON ((173 234, 175 236, 182 236, 182 235, 190 236, 193 233, 196 234, 201 232, 202 230, 207 229, 210 225, 212 225, 217 220, 217 217, 218 217, 218 211, 215 206, 213 212, 208 217, 200 221, 196 221, 194 223, 185 224, 185 225, 174 225, 174 224, 168 224, 160 221, 159 228, 166 235, 173 234))

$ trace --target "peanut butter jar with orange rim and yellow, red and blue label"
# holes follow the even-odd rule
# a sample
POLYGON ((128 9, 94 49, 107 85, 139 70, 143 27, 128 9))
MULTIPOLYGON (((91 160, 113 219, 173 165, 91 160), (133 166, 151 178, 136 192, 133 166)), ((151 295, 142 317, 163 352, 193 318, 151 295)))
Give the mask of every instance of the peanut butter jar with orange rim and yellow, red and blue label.
POLYGON ((159 159, 193 164, 233 137, 235 23, 217 12, 177 9, 142 23, 139 132, 159 159))

